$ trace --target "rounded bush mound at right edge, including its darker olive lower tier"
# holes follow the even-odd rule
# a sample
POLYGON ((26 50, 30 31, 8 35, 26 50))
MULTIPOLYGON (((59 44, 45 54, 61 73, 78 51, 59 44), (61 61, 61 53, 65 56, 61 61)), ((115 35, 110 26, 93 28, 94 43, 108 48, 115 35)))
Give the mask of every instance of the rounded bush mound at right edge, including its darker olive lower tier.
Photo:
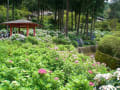
POLYGON ((106 63, 109 67, 116 69, 120 66, 120 37, 119 32, 114 32, 113 35, 103 37, 98 43, 98 50, 96 53, 96 60, 106 63))

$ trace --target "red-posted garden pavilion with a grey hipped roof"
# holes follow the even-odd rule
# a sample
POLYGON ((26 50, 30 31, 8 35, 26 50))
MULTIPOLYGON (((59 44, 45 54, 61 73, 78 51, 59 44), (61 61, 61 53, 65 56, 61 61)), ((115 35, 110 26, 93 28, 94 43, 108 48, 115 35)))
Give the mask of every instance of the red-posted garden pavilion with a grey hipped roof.
POLYGON ((12 36, 12 29, 14 27, 19 28, 19 32, 20 32, 20 28, 26 28, 27 30, 27 35, 29 36, 29 28, 33 28, 33 36, 36 35, 36 31, 35 28, 38 26, 38 24, 33 23, 31 21, 28 20, 15 20, 15 21, 8 21, 8 22, 4 22, 2 23, 3 25, 8 25, 10 27, 10 36, 12 36))

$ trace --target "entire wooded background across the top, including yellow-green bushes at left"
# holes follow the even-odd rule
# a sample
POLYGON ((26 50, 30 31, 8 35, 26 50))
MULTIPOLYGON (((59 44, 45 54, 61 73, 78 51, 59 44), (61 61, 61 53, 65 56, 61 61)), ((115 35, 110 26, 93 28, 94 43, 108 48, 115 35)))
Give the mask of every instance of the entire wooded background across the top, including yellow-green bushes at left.
POLYGON ((119 0, 1 0, 0 22, 27 18, 44 26, 45 12, 52 12, 49 22, 66 36, 76 30, 77 35, 92 37, 98 17, 119 18, 119 4, 119 0))

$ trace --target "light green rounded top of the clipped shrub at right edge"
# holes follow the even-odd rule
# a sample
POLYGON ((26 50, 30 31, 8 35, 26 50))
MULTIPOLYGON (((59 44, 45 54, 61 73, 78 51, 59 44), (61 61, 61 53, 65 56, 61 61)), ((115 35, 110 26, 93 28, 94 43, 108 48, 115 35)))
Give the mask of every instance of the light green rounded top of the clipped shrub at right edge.
POLYGON ((98 50, 112 57, 120 58, 120 37, 107 35, 98 44, 98 50))

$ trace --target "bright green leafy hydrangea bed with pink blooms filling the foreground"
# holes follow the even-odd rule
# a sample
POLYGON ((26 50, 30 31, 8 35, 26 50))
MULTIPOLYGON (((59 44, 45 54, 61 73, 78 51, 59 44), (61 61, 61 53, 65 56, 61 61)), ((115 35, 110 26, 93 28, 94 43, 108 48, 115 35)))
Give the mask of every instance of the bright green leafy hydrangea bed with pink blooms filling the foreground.
POLYGON ((103 65, 93 67, 95 62, 74 51, 73 46, 56 47, 51 42, 38 42, 35 37, 26 38, 24 43, 16 40, 0 41, 0 88, 87 90, 93 88, 89 86, 89 82, 93 81, 96 73, 107 72, 103 65), (41 68, 46 70, 46 74, 38 73, 41 68), (94 74, 89 74, 88 70, 92 70, 94 74))

